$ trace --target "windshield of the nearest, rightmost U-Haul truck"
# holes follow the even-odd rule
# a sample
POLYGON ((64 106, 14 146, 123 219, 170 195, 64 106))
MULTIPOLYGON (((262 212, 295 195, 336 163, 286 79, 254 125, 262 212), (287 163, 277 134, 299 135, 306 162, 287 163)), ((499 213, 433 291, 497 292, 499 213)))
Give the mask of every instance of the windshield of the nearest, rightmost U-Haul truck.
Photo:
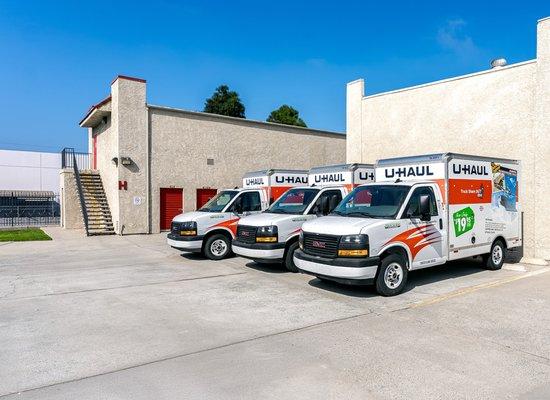
POLYGON ((332 214, 364 218, 395 218, 409 186, 359 186, 348 194, 332 214))

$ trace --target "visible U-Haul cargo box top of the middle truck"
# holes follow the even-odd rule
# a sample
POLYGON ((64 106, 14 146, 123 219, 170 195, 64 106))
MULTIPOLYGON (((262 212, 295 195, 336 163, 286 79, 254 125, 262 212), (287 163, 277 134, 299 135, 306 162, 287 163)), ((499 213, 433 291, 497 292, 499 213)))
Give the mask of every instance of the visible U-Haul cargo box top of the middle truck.
POLYGON ((372 164, 327 165, 309 171, 309 184, 312 186, 342 185, 351 191, 357 185, 373 181, 372 164))

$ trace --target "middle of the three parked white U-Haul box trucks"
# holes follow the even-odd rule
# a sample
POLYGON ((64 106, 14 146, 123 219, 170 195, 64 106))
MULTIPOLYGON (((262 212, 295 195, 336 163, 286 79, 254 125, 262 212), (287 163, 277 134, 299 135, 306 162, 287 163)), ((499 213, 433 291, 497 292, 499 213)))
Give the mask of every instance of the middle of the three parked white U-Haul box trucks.
POLYGON ((233 240, 233 252, 257 262, 282 262, 298 272, 294 251, 302 224, 327 215, 351 189, 374 181, 374 166, 341 164, 312 168, 311 186, 289 189, 265 212, 242 218, 233 240))

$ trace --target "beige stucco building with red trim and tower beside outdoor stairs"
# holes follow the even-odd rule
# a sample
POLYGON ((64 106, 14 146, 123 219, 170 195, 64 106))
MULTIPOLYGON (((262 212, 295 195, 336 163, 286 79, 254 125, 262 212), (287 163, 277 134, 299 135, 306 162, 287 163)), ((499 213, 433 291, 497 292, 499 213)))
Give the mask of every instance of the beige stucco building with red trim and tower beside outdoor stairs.
POLYGON ((343 134, 155 106, 146 90, 145 80, 118 76, 80 122, 116 233, 166 228, 170 189, 191 211, 201 191, 240 186, 248 171, 345 161, 343 134))

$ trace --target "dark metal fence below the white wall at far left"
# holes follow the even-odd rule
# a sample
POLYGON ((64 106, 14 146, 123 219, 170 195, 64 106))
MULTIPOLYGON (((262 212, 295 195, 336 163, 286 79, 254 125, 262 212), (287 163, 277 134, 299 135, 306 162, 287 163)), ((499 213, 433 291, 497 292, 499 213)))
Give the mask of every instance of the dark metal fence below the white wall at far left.
POLYGON ((0 228, 59 225, 59 195, 45 191, 0 191, 0 228))

